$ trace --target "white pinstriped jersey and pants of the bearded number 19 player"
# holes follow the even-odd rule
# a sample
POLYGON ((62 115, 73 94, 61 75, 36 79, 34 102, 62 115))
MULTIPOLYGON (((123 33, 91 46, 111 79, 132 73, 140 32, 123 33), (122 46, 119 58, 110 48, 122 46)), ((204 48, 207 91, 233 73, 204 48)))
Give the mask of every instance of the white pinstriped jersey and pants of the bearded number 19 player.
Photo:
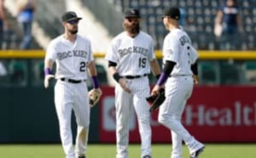
MULTIPOLYGON (((150 61, 155 58, 153 39, 145 32, 131 38, 127 32, 120 33, 111 41, 106 59, 117 63, 121 76, 143 75, 150 73, 150 61)), ((141 157, 151 155, 151 128, 148 77, 127 80, 132 93, 125 92, 117 84, 115 89, 117 158, 127 158, 129 144, 129 117, 135 109, 141 137, 141 157), (134 108, 133 108, 134 107, 134 108)))

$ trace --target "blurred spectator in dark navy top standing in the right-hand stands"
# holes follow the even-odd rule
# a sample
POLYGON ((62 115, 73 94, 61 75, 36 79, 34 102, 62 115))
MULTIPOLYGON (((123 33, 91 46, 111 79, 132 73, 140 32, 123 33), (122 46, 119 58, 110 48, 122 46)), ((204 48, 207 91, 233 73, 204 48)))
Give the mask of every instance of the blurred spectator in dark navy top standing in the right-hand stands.
POLYGON ((215 19, 214 33, 220 37, 220 49, 237 49, 238 31, 243 32, 239 8, 235 0, 227 0, 226 5, 220 8, 215 19))

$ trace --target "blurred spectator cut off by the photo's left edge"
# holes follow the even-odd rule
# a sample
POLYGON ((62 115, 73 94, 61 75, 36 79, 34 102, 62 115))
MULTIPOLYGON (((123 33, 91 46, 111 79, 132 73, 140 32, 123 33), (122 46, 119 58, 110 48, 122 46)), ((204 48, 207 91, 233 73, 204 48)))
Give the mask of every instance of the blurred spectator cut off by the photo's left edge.
POLYGON ((0 0, 0 48, 2 49, 4 29, 9 28, 4 11, 4 0, 0 0))

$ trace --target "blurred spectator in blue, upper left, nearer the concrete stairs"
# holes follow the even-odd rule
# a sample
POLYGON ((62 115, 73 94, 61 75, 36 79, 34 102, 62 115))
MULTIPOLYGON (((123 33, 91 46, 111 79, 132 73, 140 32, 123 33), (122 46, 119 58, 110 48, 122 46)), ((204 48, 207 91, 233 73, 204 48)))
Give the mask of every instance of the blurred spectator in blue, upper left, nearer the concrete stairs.
POLYGON ((18 1, 18 22, 23 31, 23 39, 20 44, 21 49, 29 49, 32 39, 31 30, 34 19, 35 1, 19 0, 18 1))

